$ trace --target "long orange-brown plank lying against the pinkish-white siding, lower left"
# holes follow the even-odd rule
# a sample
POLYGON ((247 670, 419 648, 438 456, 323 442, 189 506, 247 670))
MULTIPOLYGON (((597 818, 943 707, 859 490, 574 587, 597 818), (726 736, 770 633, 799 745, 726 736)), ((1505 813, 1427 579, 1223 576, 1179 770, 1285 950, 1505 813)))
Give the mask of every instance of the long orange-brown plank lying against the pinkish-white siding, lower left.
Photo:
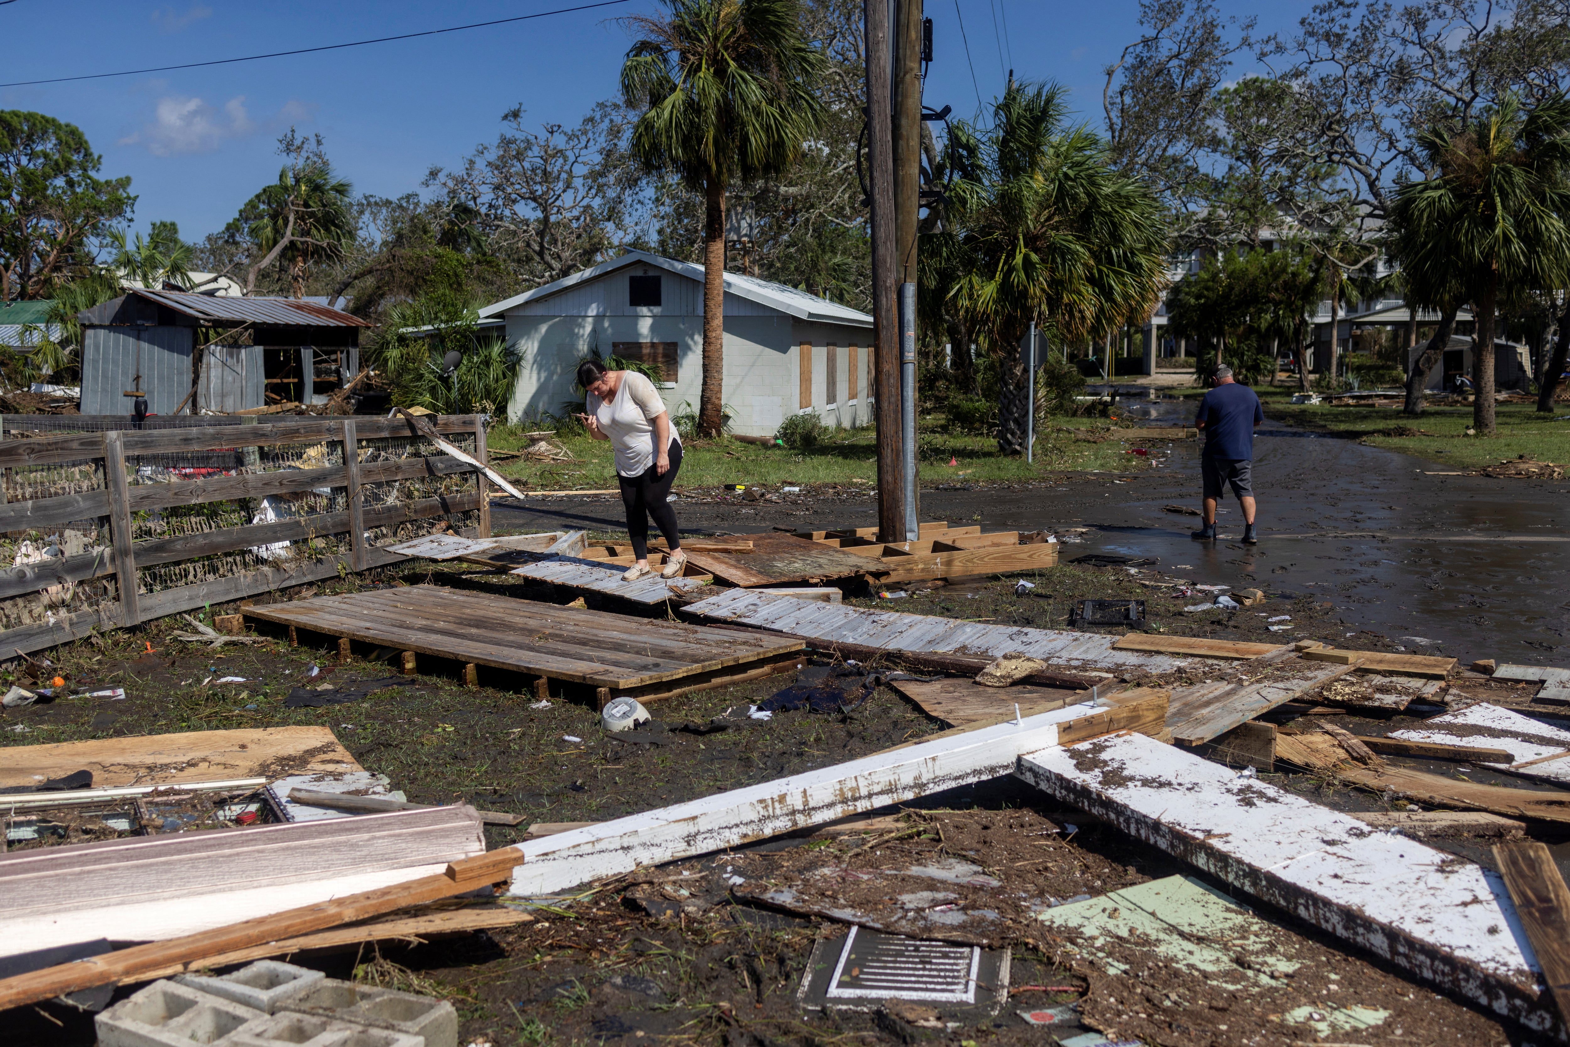
POLYGON ((25 975, 3 978, 0 980, 0 1009, 22 1006, 24 1003, 38 1003, 94 986, 133 981, 140 980, 149 970, 163 970, 174 964, 203 961, 209 956, 221 956, 344 923, 369 920, 397 909, 465 895, 491 884, 491 862, 485 862, 485 855, 479 855, 479 859, 482 860, 466 859, 465 862, 449 862, 447 870, 435 876, 421 876, 347 896, 314 901, 297 909, 275 912, 168 942, 133 945, 85 961, 72 961, 58 967, 46 967, 25 975), (471 866, 469 862, 474 862, 474 865, 471 866), (468 873, 469 868, 480 871, 468 873))

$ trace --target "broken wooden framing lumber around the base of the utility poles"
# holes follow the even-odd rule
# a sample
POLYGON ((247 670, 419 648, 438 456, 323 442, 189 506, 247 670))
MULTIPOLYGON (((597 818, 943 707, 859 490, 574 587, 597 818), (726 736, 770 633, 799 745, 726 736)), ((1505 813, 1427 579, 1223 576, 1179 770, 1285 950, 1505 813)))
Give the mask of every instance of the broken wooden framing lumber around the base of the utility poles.
POLYGON ((981 534, 978 526, 950 527, 944 521, 922 524, 917 542, 878 542, 876 527, 799 531, 796 537, 873 560, 868 578, 879 586, 1011 575, 1057 567, 1055 542, 1020 545, 1017 531, 981 534))

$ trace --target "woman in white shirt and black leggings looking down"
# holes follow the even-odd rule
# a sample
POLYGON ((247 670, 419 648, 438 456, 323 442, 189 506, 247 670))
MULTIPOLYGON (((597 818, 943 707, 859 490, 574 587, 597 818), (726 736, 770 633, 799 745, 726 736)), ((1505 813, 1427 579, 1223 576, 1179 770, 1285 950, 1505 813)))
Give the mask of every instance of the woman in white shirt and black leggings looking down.
POLYGON ((578 364, 578 385, 587 389, 582 416, 589 435, 615 447, 615 479, 626 507, 626 534, 637 562, 622 575, 636 581, 653 573, 648 567, 648 518, 670 549, 661 578, 675 578, 686 565, 677 515, 666 499, 681 468, 681 436, 655 383, 636 370, 606 370, 598 359, 578 364))

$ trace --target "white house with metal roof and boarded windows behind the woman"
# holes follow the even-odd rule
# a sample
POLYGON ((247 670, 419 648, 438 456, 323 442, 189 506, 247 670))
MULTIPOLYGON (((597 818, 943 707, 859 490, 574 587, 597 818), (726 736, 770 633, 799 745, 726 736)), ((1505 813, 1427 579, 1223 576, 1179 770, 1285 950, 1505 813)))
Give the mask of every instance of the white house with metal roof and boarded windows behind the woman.
MULTIPOLYGON (((507 418, 560 414, 578 363, 598 353, 656 367, 672 414, 697 410, 703 385, 703 267, 628 251, 581 273, 480 309, 502 319, 520 363, 507 418)), ((827 298, 725 273, 725 383, 730 429, 771 436, 788 414, 827 425, 871 421, 873 319, 827 298)), ((581 410, 581 408, 579 408, 581 410)))

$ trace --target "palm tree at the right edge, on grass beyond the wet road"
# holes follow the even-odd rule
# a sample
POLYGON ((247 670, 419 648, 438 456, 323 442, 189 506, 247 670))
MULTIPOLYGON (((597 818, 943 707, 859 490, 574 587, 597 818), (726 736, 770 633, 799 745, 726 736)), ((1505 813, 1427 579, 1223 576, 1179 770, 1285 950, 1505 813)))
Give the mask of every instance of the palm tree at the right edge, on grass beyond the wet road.
MULTIPOLYGON (((1433 174, 1396 196, 1400 256, 1430 301, 1449 268, 1473 303, 1473 425, 1492 436, 1493 330, 1501 295, 1562 287, 1570 278, 1570 100, 1562 94, 1523 115, 1507 96, 1462 130, 1418 138, 1433 174)), ((1419 295, 1421 297, 1421 295, 1419 295)))

